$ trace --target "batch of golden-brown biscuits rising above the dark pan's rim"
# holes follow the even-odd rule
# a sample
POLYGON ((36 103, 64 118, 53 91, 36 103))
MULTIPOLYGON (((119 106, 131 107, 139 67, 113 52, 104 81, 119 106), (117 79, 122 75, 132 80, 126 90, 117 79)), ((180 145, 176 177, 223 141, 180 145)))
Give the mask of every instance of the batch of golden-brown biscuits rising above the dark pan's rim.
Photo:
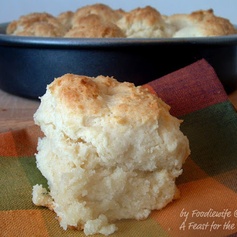
POLYGON ((77 38, 164 38, 235 34, 234 25, 212 9, 189 14, 164 15, 151 6, 131 11, 105 4, 86 5, 53 16, 34 12, 12 21, 7 34, 77 38))

